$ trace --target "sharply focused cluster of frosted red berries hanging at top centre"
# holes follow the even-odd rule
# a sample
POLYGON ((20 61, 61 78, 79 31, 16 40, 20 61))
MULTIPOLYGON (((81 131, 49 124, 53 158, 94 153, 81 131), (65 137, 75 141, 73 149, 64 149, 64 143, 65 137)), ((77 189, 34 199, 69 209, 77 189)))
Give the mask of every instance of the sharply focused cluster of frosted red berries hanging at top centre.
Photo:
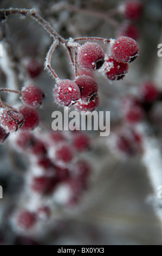
MULTIPOLYGON (((77 63, 83 70, 91 72, 101 68, 109 80, 119 80, 128 71, 128 62, 138 56, 139 47, 135 40, 126 36, 113 41, 112 55, 105 58, 102 47, 94 42, 86 42, 77 53, 77 63)), ((61 80, 54 88, 55 102, 63 107, 75 105, 77 111, 94 111, 99 105, 98 84, 91 76, 82 75, 75 81, 61 80)))

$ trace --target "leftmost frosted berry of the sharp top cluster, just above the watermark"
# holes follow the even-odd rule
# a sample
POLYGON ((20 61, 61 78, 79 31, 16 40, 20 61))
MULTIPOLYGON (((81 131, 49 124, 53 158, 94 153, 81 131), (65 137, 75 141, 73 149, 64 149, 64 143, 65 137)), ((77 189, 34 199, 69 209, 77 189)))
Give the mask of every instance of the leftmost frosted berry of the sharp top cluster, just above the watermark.
POLYGON ((80 98, 80 89, 74 81, 61 80, 53 92, 54 100, 62 107, 70 107, 80 98))

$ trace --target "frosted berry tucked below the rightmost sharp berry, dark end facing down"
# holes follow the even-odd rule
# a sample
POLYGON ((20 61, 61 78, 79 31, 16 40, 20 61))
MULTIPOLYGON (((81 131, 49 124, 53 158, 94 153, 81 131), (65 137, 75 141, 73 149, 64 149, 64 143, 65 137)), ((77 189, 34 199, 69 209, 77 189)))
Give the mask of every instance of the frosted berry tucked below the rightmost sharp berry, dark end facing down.
POLYGON ((101 72, 109 80, 120 80, 125 77, 128 68, 127 63, 117 62, 113 56, 109 56, 105 59, 101 72))

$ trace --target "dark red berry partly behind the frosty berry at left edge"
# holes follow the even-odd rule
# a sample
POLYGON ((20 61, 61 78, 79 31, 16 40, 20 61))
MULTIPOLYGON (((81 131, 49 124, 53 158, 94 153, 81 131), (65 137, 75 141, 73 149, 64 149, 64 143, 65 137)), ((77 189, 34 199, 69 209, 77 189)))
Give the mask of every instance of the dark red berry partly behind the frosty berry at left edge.
POLYGON ((21 127, 21 130, 33 130, 40 121, 40 115, 36 109, 24 105, 19 108, 19 111, 24 117, 24 124, 21 127))

